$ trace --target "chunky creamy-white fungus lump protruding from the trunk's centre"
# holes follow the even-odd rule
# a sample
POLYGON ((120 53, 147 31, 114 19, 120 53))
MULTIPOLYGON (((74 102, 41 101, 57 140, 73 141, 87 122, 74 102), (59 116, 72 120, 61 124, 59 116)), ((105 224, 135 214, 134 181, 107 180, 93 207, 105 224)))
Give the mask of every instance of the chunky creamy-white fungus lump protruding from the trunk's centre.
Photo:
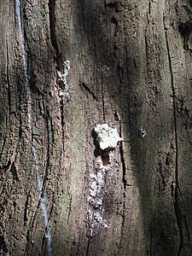
POLYGON ((117 129, 109 127, 108 124, 96 125, 95 131, 97 134, 96 141, 102 150, 113 149, 122 141, 117 129))

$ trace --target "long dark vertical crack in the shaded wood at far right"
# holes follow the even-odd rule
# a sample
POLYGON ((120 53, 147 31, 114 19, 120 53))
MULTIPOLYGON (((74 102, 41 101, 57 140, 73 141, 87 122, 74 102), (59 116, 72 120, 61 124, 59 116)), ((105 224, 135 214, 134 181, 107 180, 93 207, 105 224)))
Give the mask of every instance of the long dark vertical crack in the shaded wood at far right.
POLYGON ((170 71, 171 84, 172 84, 172 102, 173 102, 172 107, 173 107, 173 122, 174 122, 174 130, 175 130, 175 147, 176 147, 176 154, 175 154, 176 184, 175 184, 175 195, 174 195, 174 209, 175 209, 175 214, 176 214, 176 218, 177 218, 177 226, 178 226, 179 235, 180 235, 180 245, 179 245, 177 256, 180 256, 182 248, 183 248, 183 227, 182 227, 182 216, 181 216, 180 208, 178 206, 179 183, 178 183, 178 140, 177 140, 176 93, 175 93, 173 73, 172 73, 172 57, 171 57, 170 48, 169 48, 165 20, 163 20, 163 22, 164 22, 164 31, 165 31, 165 38, 166 38, 167 57, 168 57, 168 62, 169 62, 169 71, 170 71))

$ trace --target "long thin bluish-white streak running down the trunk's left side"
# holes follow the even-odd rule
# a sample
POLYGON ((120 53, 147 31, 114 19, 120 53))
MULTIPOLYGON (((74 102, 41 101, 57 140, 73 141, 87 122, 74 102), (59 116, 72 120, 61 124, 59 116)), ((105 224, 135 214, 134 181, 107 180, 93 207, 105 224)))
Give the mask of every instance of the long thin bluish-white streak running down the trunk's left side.
MULTIPOLYGON (((27 112, 28 112, 28 123, 31 125, 31 113, 29 109, 29 81, 28 81, 28 74, 27 74, 27 67, 26 67, 26 52, 24 47, 24 39, 23 39, 23 32, 21 27, 21 20, 20 20, 20 0, 16 0, 16 15, 18 17, 18 23, 19 23, 19 29, 20 29, 20 47, 22 51, 22 58, 23 58, 23 68, 24 68, 24 74, 25 74, 25 88, 26 88, 26 102, 27 102, 27 112)), ((32 132, 31 132, 32 133, 32 132)), ((39 170, 38 170, 38 158, 36 154, 36 148, 35 143, 32 141, 32 152, 35 160, 35 169, 37 172, 37 178, 38 178, 38 189, 39 189, 39 200, 41 204, 42 211, 44 212, 44 226, 46 230, 46 238, 48 239, 48 253, 49 256, 52 255, 52 247, 51 247, 51 233, 50 233, 50 227, 48 224, 48 213, 47 213, 47 207, 46 207, 46 195, 43 191, 43 183, 41 181, 41 178, 39 177, 39 170)))

